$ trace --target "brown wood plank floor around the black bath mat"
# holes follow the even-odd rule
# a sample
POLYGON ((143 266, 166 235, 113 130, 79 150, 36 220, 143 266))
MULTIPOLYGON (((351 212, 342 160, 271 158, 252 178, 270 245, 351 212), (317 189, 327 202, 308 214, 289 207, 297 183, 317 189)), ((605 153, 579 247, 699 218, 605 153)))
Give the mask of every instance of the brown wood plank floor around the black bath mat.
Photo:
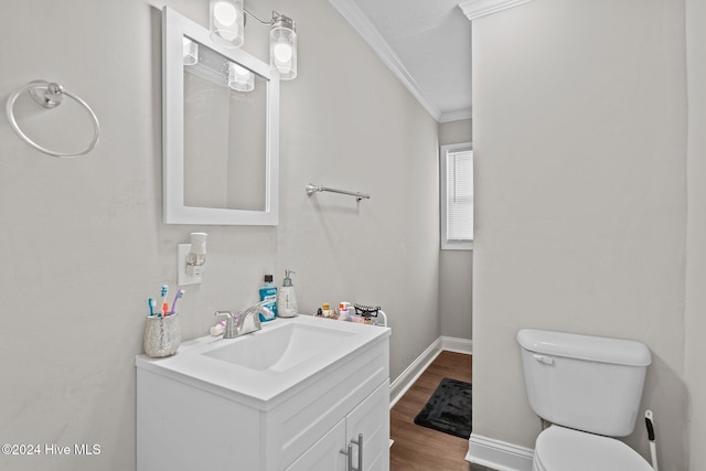
POLYGON ((472 382, 472 356, 443 351, 391 410, 391 471, 480 471, 466 461, 468 439, 418 426, 415 417, 442 378, 472 382))

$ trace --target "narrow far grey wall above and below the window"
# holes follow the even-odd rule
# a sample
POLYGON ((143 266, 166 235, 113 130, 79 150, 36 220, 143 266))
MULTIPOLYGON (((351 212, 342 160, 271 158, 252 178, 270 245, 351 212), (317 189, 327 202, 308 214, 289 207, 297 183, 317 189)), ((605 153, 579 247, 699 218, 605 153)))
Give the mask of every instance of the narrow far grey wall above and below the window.
MULTIPOLYGON (((439 125, 439 146, 473 140, 471 119, 439 125)), ((473 339, 473 250, 439 255, 439 322, 441 335, 473 339)))

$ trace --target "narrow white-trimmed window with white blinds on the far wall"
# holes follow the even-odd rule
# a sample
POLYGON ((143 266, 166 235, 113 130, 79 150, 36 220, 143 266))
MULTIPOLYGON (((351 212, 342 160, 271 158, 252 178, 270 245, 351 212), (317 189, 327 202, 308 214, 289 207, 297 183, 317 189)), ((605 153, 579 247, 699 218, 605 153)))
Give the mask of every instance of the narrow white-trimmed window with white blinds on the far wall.
POLYGON ((473 248, 473 148, 441 146, 441 248, 473 248))

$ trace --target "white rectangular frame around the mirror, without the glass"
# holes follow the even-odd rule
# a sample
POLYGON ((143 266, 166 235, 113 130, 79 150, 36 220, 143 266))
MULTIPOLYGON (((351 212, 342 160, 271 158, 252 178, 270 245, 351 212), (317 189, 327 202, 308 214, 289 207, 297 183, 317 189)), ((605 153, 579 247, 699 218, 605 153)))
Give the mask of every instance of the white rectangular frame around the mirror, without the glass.
POLYGON ((269 64, 239 49, 214 43, 199 23, 162 9, 162 185, 165 224, 276 226, 279 220, 279 76, 269 64), (265 211, 184 205, 183 36, 239 63, 267 79, 267 150, 265 211))

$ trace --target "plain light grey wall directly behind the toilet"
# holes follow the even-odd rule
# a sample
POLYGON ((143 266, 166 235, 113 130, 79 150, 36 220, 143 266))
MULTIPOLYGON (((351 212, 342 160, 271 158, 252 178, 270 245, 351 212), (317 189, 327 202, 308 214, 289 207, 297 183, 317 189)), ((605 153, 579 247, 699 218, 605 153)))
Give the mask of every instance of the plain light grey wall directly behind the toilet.
MULTIPOLYGON (((473 433, 534 447, 520 329, 629 338, 653 354, 660 469, 687 469, 684 46, 680 1, 473 22, 473 433)), ((646 456, 645 435, 628 442, 646 456)))

